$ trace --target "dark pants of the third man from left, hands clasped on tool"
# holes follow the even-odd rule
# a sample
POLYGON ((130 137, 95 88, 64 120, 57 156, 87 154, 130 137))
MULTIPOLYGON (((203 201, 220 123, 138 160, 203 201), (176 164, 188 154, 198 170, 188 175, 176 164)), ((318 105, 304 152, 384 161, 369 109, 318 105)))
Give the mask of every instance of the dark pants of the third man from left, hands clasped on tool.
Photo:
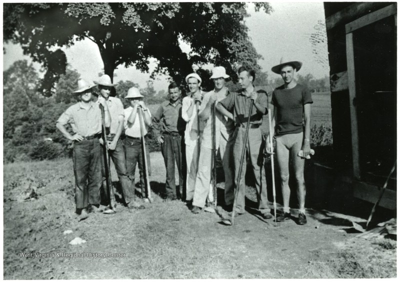
MULTIPOLYGON (((126 170, 131 180, 132 189, 129 190, 128 198, 134 200, 134 173, 136 170, 136 164, 139 166, 140 175, 140 187, 141 196, 145 198, 145 186, 144 186, 144 160, 141 150, 141 140, 125 138, 125 159, 126 159, 126 170)), ((125 195, 124 195, 125 196, 125 195)), ((125 196, 126 197, 126 196, 125 196)))

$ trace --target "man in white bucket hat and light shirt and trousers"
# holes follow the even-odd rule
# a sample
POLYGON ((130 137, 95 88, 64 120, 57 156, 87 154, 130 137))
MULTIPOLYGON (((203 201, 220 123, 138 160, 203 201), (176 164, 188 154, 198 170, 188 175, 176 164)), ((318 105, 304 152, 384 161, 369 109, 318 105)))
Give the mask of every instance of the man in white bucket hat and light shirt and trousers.
MULTIPOLYGON (((205 201, 212 199, 212 184, 211 184, 211 156, 212 156, 212 116, 211 107, 214 102, 223 100, 229 90, 225 87, 225 79, 229 75, 226 74, 223 66, 216 66, 212 69, 210 79, 214 82, 214 90, 204 94, 199 117, 205 122, 203 134, 200 142, 200 157, 198 160, 198 171, 195 182, 193 208, 192 213, 197 214, 200 208, 203 208, 205 201), (210 187, 210 189, 209 189, 210 187)), ((234 124, 232 120, 227 119, 220 112, 215 112, 215 145, 222 159, 223 171, 225 175, 225 204, 233 203, 233 177, 234 167, 232 158, 232 133, 234 124)))

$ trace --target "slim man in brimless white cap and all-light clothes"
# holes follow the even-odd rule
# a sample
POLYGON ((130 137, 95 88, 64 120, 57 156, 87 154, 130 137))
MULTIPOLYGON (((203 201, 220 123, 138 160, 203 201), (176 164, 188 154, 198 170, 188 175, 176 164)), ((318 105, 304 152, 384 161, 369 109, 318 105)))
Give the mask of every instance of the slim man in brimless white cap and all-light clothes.
POLYGON ((182 100, 182 118, 186 122, 184 143, 186 153, 186 201, 191 205, 194 194, 194 185, 198 168, 198 146, 200 135, 204 128, 203 122, 197 122, 197 110, 202 100, 200 90, 201 78, 197 73, 190 73, 185 81, 189 87, 190 95, 182 100))

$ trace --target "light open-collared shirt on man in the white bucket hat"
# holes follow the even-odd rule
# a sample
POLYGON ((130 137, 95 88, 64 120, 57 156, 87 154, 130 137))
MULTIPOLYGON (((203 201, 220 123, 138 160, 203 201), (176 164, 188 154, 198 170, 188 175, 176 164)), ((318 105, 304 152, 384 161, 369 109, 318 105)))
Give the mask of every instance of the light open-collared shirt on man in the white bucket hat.
MULTIPOLYGON (((215 90, 212 90, 210 92, 207 92, 204 94, 203 100, 201 102, 201 107, 200 107, 200 113, 205 109, 205 106, 207 105, 209 98, 211 95, 216 95, 216 100, 222 101, 224 98, 226 98, 229 95, 229 91, 226 87, 223 87, 221 90, 218 92, 215 92, 215 90)), ((213 105, 211 106, 213 107, 213 105)), ((212 113, 212 110, 211 110, 212 113)), ((222 115, 219 111, 215 109, 215 144, 219 144, 219 138, 222 135, 223 138, 226 140, 229 139, 229 133, 232 132, 234 124, 233 121, 222 115)), ((208 119, 205 121, 205 126, 203 130, 203 135, 201 138, 201 146, 212 149, 212 116, 208 117, 208 119)))

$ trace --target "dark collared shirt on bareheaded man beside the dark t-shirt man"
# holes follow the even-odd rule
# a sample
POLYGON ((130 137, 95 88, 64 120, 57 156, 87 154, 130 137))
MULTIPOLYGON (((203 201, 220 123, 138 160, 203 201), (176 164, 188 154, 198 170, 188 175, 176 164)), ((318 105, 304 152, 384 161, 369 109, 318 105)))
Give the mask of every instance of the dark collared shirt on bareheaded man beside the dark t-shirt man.
POLYGON ((261 124, 262 116, 268 113, 268 96, 263 90, 256 91, 258 93, 256 102, 258 102, 261 107, 265 108, 265 112, 259 113, 255 106, 253 106, 251 114, 250 106, 252 100, 244 94, 244 89, 237 93, 231 93, 225 99, 220 101, 225 109, 231 111, 233 109, 233 120, 237 125, 246 126, 248 115, 250 114, 250 124, 261 124))

